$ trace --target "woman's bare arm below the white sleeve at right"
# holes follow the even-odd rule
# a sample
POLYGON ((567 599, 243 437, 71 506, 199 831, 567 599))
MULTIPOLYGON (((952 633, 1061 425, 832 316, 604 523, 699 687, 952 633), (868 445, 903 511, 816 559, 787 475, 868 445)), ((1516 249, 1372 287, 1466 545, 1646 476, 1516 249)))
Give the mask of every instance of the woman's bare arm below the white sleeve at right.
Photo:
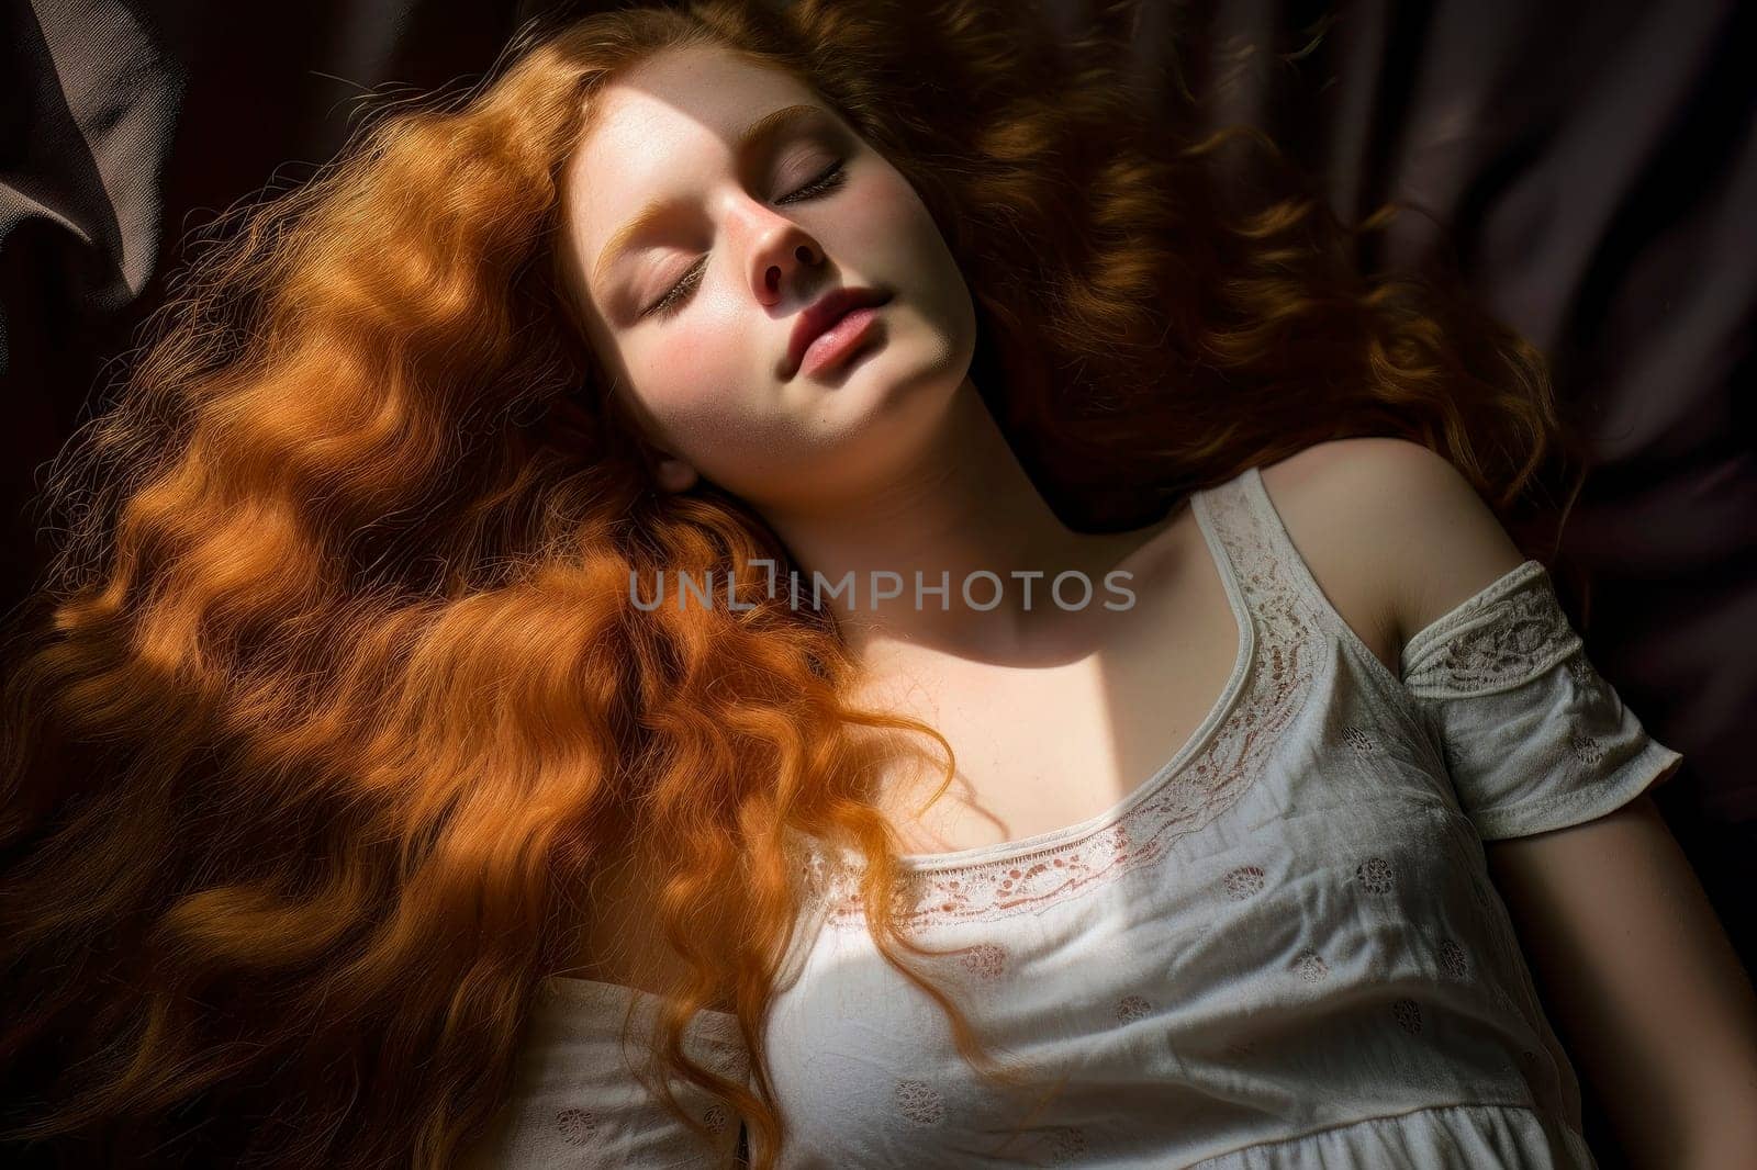
POLYGON ((1652 798, 1485 852, 1632 1165, 1757 1156, 1757 994, 1652 798))

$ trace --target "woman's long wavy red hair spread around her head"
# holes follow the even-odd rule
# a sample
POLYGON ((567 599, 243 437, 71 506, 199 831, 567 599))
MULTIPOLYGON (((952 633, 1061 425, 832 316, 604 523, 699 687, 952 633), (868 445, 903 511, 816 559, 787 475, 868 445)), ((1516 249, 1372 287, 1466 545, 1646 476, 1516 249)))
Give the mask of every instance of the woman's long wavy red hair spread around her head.
POLYGON ((1529 545, 1522 509, 1573 457, 1541 355, 1434 281, 1362 272, 1390 207, 1344 225, 1254 132, 1144 118, 1130 9, 1075 40, 1007 0, 527 26, 476 88, 228 216, 56 459, 61 545, 12 615, 0 1065, 33 1094, 9 1137, 452 1165, 631 840, 682 971, 666 1100, 671 1077, 715 1094, 754 1165, 785 1137, 763 1021, 805 838, 857 850, 886 961, 1007 1079, 907 957, 936 952, 894 912, 873 792, 915 736, 949 782, 951 745, 847 701, 835 620, 752 566, 798 567, 752 509, 654 488, 562 292, 557 188, 618 70, 724 46, 914 183, 977 300, 972 376, 1077 527, 1383 434, 1529 545), (752 608, 636 608, 666 569, 729 573, 752 608), (736 1014, 748 1082, 685 1054, 705 1007, 736 1014))

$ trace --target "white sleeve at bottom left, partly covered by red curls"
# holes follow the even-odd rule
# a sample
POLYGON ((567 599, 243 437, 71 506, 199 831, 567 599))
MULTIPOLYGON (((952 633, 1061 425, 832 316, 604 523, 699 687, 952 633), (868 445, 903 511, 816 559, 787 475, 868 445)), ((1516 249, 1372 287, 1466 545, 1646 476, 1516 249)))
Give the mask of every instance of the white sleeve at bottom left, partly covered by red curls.
MULTIPOLYGON (((583 1170, 585 1166, 738 1165, 738 1117, 706 1091, 673 1080, 678 1100, 703 1124, 701 1137, 671 1114, 636 1075, 659 998, 585 979, 543 984, 520 1045, 513 1093, 466 1170, 583 1170)), ((701 1012, 685 1033, 701 1065, 748 1082, 736 1019, 701 1012)))

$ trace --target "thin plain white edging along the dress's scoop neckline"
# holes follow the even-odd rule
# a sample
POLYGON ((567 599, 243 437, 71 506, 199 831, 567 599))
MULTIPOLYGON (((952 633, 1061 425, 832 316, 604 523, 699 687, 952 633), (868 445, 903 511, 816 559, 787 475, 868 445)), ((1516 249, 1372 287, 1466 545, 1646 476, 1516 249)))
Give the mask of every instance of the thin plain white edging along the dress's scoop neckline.
MULTIPOLYGON (((1235 485, 1223 487, 1235 488, 1235 485)), ((1219 573, 1221 585, 1226 590, 1226 604, 1232 608, 1232 620, 1239 627, 1239 648, 1233 655, 1232 675, 1228 675, 1226 685, 1221 687, 1221 692, 1214 699, 1212 706, 1209 706, 1207 715, 1204 715, 1202 722, 1197 724, 1197 729, 1189 733, 1189 738, 1184 740, 1182 747, 1179 747, 1168 761, 1160 764, 1153 775, 1123 796, 1123 799, 1084 820, 1059 829, 1033 833, 1031 836, 1016 838, 1012 841, 996 841, 994 845, 972 845, 968 849, 954 849, 936 854, 898 854, 898 863, 903 870, 912 873, 949 873, 1001 861, 1031 863, 1040 854, 1056 852, 1068 843, 1082 841, 1116 826, 1128 817, 1132 810, 1140 806, 1142 801, 1153 798, 1154 792, 1161 791, 1177 775, 1181 775, 1197 759, 1197 755, 1214 741, 1214 736, 1232 717, 1233 708, 1239 703, 1239 696, 1244 694, 1246 683, 1249 682, 1253 668, 1258 661, 1258 632, 1254 615, 1251 613, 1251 606, 1244 597, 1244 589, 1237 580, 1237 569, 1232 557, 1214 531, 1212 513, 1209 511, 1211 492, 1212 490, 1195 492, 1191 497, 1191 508, 1197 515, 1197 527, 1202 532, 1204 546, 1209 550, 1209 557, 1212 559, 1214 567, 1219 573)), ((845 849, 842 850, 842 856, 856 864, 859 863, 857 850, 845 849)))

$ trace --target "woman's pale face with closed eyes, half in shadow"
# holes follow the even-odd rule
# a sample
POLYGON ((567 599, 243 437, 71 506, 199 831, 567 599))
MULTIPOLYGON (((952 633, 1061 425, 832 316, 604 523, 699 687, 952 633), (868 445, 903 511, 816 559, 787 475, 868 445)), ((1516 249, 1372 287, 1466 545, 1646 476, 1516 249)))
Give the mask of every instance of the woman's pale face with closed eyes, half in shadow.
POLYGON ((810 511, 905 469, 975 348, 970 292, 908 181, 799 81, 720 49, 659 53, 596 100, 566 260, 587 339, 671 457, 662 485, 699 473, 810 511), (852 288, 887 297, 861 339, 794 362, 805 309, 852 288))

